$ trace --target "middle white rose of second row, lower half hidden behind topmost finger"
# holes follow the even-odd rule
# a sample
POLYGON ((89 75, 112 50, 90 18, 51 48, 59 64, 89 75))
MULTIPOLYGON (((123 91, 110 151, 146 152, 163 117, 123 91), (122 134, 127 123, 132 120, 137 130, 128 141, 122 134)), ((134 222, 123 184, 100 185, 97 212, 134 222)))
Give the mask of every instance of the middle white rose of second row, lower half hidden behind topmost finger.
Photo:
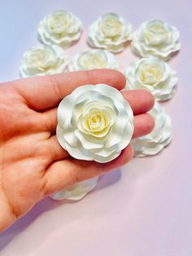
POLYGON ((115 56, 104 50, 91 50, 78 53, 68 66, 69 71, 86 70, 94 68, 119 68, 115 56))

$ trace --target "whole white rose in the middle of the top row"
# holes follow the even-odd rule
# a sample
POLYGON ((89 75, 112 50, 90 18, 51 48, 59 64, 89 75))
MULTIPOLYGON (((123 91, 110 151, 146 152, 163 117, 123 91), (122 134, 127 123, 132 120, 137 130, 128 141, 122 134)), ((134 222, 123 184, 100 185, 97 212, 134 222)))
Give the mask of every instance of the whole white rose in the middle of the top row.
POLYGON ((124 50, 125 42, 132 39, 132 25, 115 13, 107 13, 89 28, 90 46, 112 52, 124 50))

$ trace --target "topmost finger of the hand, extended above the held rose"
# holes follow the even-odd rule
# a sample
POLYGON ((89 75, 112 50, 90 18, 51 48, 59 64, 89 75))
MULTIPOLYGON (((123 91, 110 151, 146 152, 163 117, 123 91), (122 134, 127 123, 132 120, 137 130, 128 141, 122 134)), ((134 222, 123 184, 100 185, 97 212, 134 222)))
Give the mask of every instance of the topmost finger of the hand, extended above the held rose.
POLYGON ((122 73, 111 69, 95 69, 72 73, 55 74, 45 77, 30 77, 12 82, 24 103, 34 110, 54 108, 61 99, 70 94, 77 86, 107 83, 122 90, 126 80, 122 73))

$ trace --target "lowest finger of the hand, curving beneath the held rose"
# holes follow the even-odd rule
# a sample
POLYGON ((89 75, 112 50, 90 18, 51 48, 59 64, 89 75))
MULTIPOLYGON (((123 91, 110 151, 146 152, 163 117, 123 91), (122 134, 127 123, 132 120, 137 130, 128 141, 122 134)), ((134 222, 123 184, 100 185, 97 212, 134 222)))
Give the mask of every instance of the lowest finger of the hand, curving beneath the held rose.
POLYGON ((46 170, 44 176, 46 180, 46 195, 58 192, 63 188, 101 175, 109 170, 115 170, 124 166, 133 157, 133 149, 129 146, 125 148, 119 157, 105 164, 95 161, 80 161, 68 158, 63 161, 55 161, 46 170))

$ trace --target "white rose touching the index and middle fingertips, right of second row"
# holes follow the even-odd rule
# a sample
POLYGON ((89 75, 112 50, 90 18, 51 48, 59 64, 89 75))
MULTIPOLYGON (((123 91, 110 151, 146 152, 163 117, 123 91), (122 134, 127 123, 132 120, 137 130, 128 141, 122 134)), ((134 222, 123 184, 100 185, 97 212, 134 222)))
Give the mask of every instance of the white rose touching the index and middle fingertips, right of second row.
POLYGON ((177 74, 163 60, 144 58, 129 65, 125 71, 126 89, 150 90, 156 100, 171 99, 177 74))

